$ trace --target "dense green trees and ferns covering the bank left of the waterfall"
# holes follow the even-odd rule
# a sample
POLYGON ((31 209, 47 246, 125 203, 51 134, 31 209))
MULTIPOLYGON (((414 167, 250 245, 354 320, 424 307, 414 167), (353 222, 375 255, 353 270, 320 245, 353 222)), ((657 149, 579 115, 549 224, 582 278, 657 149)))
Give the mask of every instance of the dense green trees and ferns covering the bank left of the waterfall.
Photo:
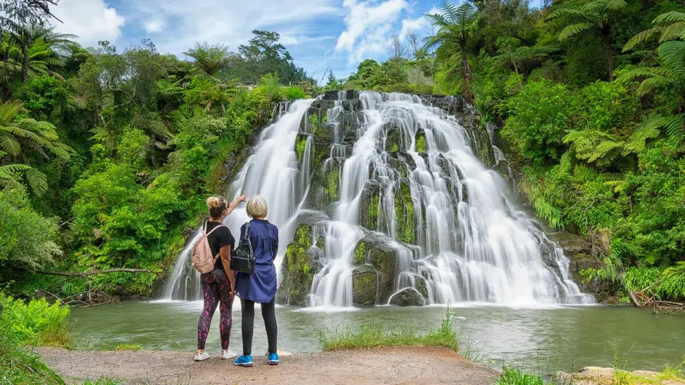
POLYGON ((225 192, 224 161, 313 82, 275 32, 190 61, 149 40, 84 49, 30 3, 3 3, 0 25, 0 281, 70 303, 149 295, 225 192))

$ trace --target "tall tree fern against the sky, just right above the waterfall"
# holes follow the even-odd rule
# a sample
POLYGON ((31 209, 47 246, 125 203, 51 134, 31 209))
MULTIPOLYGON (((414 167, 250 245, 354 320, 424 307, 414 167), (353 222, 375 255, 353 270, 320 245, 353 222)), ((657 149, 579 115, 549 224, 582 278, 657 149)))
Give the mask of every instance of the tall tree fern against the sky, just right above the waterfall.
POLYGON ((426 49, 436 50, 438 59, 452 60, 453 53, 460 53, 458 57, 462 69, 462 91, 465 95, 471 95, 471 64, 469 64, 469 52, 467 51, 471 29, 476 18, 476 12, 469 3, 457 7, 453 3, 443 1, 440 3, 440 13, 425 15, 431 23, 438 27, 438 32, 429 36, 425 42, 426 49))

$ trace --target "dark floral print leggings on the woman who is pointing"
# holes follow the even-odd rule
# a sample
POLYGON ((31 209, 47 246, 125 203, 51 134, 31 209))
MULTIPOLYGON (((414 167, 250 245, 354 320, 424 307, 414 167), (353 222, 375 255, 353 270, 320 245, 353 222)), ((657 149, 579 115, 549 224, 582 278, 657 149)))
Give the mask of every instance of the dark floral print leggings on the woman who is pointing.
POLYGON ((212 316, 216 311, 216 306, 221 302, 221 321, 219 331, 221 332, 221 349, 228 349, 228 342, 231 338, 231 324, 233 319, 233 297, 231 296, 231 284, 225 271, 214 269, 211 273, 200 275, 202 285, 204 306, 197 321, 197 349, 204 349, 207 334, 212 324, 212 316))

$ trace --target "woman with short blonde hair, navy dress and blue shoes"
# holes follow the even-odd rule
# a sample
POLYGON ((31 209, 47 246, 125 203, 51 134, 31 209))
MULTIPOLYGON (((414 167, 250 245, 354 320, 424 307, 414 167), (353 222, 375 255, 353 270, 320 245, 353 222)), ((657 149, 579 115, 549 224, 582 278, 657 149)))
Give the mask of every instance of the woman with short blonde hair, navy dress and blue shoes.
POLYGON ((264 198, 256 195, 247 202, 247 214, 252 220, 240 228, 240 239, 245 237, 249 228, 249 238, 256 259, 252 274, 236 274, 236 295, 240 297, 242 308, 242 356, 236 360, 240 367, 252 366, 252 335, 254 332, 255 303, 261 303, 262 318, 266 326, 266 338, 269 340, 267 353, 269 364, 279 362, 276 353, 276 269, 273 260, 278 251, 278 229, 266 221, 268 208, 264 198))

